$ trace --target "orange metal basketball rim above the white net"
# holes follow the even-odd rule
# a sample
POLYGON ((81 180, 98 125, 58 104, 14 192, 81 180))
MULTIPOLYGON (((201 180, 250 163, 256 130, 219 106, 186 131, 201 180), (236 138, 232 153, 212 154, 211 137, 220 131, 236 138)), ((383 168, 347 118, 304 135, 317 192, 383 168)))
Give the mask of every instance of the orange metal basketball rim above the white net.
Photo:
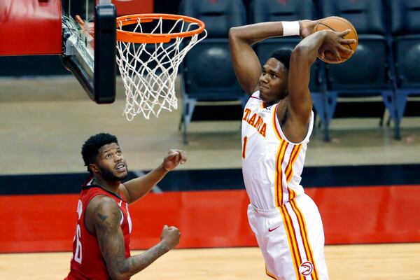
POLYGON ((191 37, 195 34, 200 34, 206 25, 201 20, 196 18, 187 17, 186 15, 171 15, 167 13, 144 13, 137 15, 124 15, 117 18, 117 41, 123 41, 127 43, 167 43, 173 38, 178 37, 191 37), (184 20, 185 22, 197 23, 199 28, 179 33, 172 34, 152 34, 152 33, 138 33, 132 31, 124 31, 119 29, 125 25, 137 24, 140 19, 141 22, 152 22, 153 20, 184 20))

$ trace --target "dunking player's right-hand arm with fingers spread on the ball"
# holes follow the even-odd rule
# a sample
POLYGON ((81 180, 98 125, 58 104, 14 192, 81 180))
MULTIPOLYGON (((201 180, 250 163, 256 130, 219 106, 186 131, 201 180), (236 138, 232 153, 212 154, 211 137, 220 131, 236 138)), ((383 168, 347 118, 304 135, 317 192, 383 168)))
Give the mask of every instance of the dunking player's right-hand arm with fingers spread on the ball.
MULTIPOLYGON (((305 33, 311 30, 314 23, 307 22, 310 28, 305 33)), ((332 52, 337 60, 340 59, 339 51, 349 54, 353 52, 342 45, 354 43, 353 39, 342 38, 348 33, 349 30, 318 31, 305 37, 293 50, 288 73, 288 109, 290 118, 297 123, 306 126, 311 116, 312 102, 308 87, 311 64, 315 62, 318 53, 323 56, 326 50, 332 52)))

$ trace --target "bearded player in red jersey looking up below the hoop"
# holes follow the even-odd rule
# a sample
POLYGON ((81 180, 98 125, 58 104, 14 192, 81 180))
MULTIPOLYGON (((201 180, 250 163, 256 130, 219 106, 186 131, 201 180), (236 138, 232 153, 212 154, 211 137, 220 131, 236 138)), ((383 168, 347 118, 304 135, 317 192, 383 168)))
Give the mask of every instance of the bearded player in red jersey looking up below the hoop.
POLYGON ((130 279, 174 248, 180 233, 165 225, 158 244, 130 256, 132 222, 128 204, 144 197, 167 172, 186 162, 186 155, 170 150, 158 168, 126 183, 121 180, 128 174, 127 163, 113 135, 90 137, 82 155, 91 176, 78 200, 73 257, 66 279, 130 279))

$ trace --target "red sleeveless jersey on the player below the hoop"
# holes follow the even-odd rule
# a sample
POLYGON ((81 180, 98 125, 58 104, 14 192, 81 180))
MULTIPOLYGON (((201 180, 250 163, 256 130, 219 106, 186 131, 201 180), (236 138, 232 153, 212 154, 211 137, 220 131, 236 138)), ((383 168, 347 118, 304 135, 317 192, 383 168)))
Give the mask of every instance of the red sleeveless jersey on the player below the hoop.
POLYGON ((120 226, 124 234, 125 258, 130 257, 130 233, 132 221, 128 212, 128 204, 119 195, 110 193, 100 186, 93 185, 92 180, 82 187, 77 206, 76 235, 73 239, 73 256, 71 258, 70 273, 65 280, 87 280, 87 279, 111 279, 106 269, 106 263, 102 256, 97 237, 87 231, 85 227, 85 210, 90 200, 97 195, 106 195, 113 198, 120 207, 123 214, 120 226))

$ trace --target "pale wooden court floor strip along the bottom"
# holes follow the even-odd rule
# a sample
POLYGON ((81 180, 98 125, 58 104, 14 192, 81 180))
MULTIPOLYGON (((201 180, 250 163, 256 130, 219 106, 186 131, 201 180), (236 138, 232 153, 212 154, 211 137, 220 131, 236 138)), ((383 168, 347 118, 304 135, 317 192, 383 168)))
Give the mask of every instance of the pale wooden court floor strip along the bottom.
MULTIPOLYGON (((141 253, 134 251, 133 253, 141 253)), ((330 279, 416 280, 420 244, 326 246, 330 279)), ((71 253, 0 255, 1 279, 63 279, 71 253), (18 273, 24 272, 24 273, 18 273)), ((258 248, 201 248, 174 250, 132 279, 230 280, 270 279, 258 248)))

